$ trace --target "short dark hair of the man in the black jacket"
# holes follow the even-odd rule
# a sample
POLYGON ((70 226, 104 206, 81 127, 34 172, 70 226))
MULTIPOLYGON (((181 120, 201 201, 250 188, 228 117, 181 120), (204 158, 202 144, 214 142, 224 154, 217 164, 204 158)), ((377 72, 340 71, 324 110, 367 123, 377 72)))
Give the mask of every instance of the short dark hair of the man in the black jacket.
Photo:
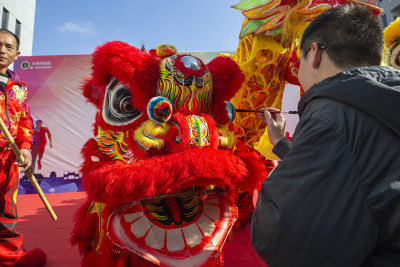
POLYGON ((314 42, 326 46, 341 69, 380 65, 382 60, 382 26, 363 5, 342 5, 319 15, 304 31, 300 49, 307 51, 314 42))

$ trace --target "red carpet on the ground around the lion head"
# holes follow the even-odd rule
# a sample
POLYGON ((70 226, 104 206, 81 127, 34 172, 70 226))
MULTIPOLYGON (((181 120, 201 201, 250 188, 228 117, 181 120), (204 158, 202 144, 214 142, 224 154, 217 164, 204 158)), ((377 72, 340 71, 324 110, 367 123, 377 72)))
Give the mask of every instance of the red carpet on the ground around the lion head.
MULTIPOLYGON (((85 192, 46 194, 46 198, 58 216, 53 221, 36 194, 18 195, 18 231, 24 235, 27 250, 41 248, 47 254, 46 267, 80 266, 76 247, 68 239, 75 210, 83 203, 85 192)), ((224 252, 224 266, 266 266, 254 252, 250 243, 250 223, 233 232, 233 240, 227 241, 224 252)))

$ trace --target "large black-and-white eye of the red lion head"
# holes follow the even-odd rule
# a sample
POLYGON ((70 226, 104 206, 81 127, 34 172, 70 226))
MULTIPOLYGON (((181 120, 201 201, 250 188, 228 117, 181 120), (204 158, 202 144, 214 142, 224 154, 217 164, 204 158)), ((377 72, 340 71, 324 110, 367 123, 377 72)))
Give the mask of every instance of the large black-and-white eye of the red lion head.
POLYGON ((118 80, 107 85, 103 100, 103 119, 111 125, 126 125, 142 115, 132 105, 131 92, 118 80))

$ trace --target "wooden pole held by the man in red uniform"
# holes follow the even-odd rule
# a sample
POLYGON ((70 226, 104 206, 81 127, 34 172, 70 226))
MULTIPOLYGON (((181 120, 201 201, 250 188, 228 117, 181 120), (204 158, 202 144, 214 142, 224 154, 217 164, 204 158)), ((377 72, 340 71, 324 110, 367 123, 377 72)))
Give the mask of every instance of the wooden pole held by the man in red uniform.
MULTIPOLYGON (((14 153, 17 155, 18 160, 21 163, 24 163, 25 162, 24 156, 22 156, 21 150, 19 150, 17 144, 14 142, 14 138, 12 138, 10 132, 8 131, 8 129, 7 129, 7 127, 4 124, 2 119, 0 119, 0 128, 1 128, 1 131, 4 133, 5 137, 7 138, 8 143, 10 143, 14 153)), ((39 197, 42 199, 43 204, 46 207, 47 211, 50 213, 51 218, 54 221, 56 221, 57 220, 57 215, 54 213, 53 209, 51 208, 49 202, 46 199, 46 196, 43 194, 43 191, 40 188, 38 182, 36 181, 36 178, 33 175, 32 171, 28 170, 25 173, 28 176, 28 178, 31 181, 31 183, 33 184, 33 187, 35 188, 35 190, 38 193, 39 197)))

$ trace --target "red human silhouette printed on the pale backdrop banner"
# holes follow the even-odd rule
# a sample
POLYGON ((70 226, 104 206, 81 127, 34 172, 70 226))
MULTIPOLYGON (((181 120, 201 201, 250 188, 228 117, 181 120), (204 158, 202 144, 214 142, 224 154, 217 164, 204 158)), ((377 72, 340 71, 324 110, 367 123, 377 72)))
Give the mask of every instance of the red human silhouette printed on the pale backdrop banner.
POLYGON ((50 141, 50 148, 53 148, 53 144, 51 142, 51 133, 49 131, 49 128, 43 127, 41 120, 36 121, 36 127, 33 132, 35 134, 35 145, 32 149, 32 172, 35 171, 35 163, 36 163, 36 158, 38 156, 39 156, 37 161, 38 169, 40 170, 42 168, 41 160, 43 158, 44 150, 46 148, 47 138, 50 141))

